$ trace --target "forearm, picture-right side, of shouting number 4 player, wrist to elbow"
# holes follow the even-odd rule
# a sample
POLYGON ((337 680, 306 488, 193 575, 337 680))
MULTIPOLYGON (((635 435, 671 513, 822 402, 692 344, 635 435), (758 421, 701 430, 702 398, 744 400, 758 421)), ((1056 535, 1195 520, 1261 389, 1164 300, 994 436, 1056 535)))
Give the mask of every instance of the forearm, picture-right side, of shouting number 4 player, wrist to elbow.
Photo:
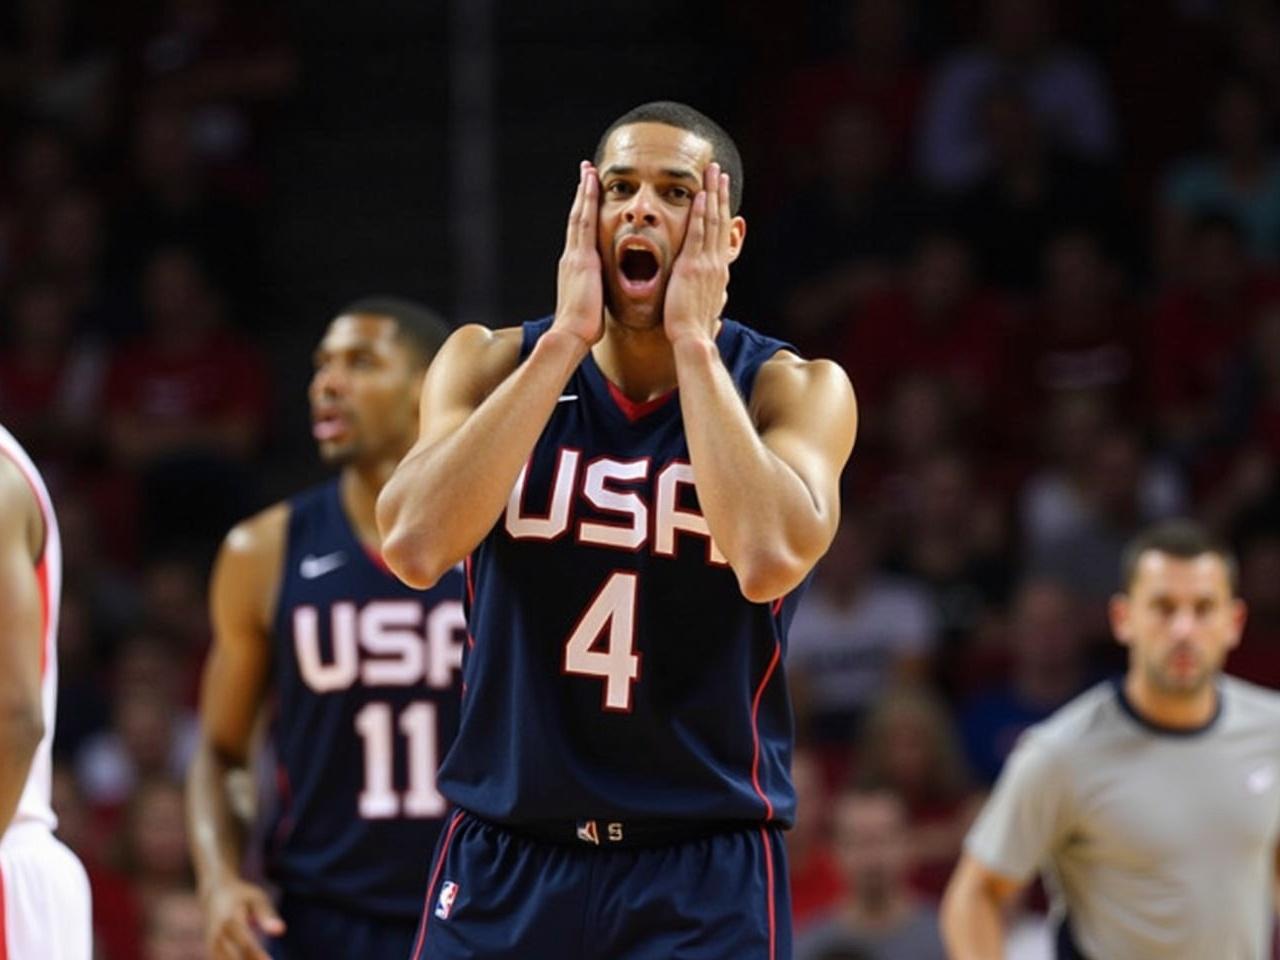
POLYGON ((800 476, 760 439, 714 343, 680 340, 676 375, 698 502, 712 539, 756 602, 799 584, 829 540, 800 476))

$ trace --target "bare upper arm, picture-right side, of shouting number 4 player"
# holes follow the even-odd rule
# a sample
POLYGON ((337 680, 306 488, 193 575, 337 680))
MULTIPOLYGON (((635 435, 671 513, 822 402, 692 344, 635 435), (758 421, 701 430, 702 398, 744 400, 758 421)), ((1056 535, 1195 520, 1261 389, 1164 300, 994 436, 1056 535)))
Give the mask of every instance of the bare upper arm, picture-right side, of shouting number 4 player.
POLYGON ((783 355, 760 369, 751 399, 760 440, 800 477, 829 541, 840 520, 840 474, 858 433, 849 378, 831 361, 783 355))

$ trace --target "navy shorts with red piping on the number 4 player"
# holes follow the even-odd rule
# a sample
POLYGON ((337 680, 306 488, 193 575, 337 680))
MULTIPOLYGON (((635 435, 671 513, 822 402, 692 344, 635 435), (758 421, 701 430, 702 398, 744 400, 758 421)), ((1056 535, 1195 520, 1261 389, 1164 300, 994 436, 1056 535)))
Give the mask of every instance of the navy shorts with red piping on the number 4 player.
POLYGON ((689 836, 671 842, 655 824, 586 820, 559 842, 457 810, 408 956, 790 960, 782 833, 733 826, 686 826, 689 836))

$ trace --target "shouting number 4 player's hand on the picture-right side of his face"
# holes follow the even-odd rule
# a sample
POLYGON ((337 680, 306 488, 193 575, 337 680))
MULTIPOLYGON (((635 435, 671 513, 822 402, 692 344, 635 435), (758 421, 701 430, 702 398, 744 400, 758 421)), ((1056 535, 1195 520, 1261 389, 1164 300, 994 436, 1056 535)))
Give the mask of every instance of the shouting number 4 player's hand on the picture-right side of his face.
POLYGON ((728 298, 730 241, 728 174, 710 163, 703 172, 703 188, 694 197, 685 243, 671 266, 663 302, 663 329, 672 343, 695 337, 712 339, 724 301, 728 298))

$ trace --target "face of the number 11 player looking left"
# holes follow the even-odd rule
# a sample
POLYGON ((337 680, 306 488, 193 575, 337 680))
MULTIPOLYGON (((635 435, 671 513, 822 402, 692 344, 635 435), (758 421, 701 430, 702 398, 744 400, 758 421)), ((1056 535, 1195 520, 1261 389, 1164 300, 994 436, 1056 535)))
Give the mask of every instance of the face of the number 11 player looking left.
POLYGON ((343 315, 316 347, 311 435, 333 466, 398 458, 417 435, 421 370, 396 320, 343 315))

